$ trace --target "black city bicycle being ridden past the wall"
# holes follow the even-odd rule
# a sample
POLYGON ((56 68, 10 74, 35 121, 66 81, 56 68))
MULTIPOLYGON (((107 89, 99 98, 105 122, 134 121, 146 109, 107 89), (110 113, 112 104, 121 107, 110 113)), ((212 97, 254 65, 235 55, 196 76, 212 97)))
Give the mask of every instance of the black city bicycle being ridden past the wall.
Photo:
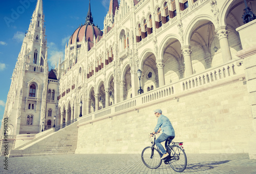
MULTIPOLYGON (((156 134, 154 136, 154 142, 150 135, 148 136, 152 146, 145 147, 141 153, 141 159, 145 166, 152 169, 156 169, 162 164, 160 150, 157 146, 155 147, 156 134)), ((169 156, 164 158, 163 161, 166 165, 170 165, 175 171, 182 172, 187 166, 187 157, 182 147, 183 142, 172 142, 172 145, 170 145, 170 141, 172 140, 169 138, 165 141, 165 148, 169 156)))

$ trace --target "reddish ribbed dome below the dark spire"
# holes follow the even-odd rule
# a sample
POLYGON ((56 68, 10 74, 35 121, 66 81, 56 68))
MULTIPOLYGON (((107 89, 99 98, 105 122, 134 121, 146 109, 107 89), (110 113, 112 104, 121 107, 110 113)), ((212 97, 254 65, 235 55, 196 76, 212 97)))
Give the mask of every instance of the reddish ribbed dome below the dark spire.
POLYGON ((69 43, 74 44, 76 37, 77 42, 82 41, 83 37, 86 37, 86 40, 93 42, 93 36, 97 38, 98 36, 102 35, 102 31, 100 31, 100 29, 97 26, 87 23, 76 29, 76 31, 70 37, 69 43))

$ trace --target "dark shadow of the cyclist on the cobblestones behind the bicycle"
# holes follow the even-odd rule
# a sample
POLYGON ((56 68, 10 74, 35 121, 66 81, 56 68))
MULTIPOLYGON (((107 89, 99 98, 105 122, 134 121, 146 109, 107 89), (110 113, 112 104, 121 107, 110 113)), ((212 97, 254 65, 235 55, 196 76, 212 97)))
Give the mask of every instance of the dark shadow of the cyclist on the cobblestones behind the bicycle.
POLYGON ((218 167, 217 165, 228 163, 230 160, 225 161, 214 161, 214 162, 200 162, 197 164, 187 164, 184 172, 195 172, 195 171, 205 171, 212 168, 218 167))

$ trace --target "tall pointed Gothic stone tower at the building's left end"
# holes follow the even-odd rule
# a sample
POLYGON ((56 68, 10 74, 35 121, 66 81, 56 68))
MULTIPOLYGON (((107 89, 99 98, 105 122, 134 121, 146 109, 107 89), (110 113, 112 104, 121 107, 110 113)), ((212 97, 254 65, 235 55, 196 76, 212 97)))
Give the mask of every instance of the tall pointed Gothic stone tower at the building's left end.
POLYGON ((42 0, 38 0, 7 96, 4 118, 8 118, 9 135, 39 133, 46 115, 48 63, 44 19, 42 0))

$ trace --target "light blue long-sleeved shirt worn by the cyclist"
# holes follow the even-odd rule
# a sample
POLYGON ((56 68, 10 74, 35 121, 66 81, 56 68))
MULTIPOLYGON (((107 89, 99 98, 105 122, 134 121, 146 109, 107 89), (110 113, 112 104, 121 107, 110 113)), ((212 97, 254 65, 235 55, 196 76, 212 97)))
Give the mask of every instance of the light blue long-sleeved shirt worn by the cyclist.
POLYGON ((161 130, 164 134, 175 137, 175 132, 172 123, 170 123, 170 120, 162 114, 158 117, 157 125, 154 131, 157 132, 159 127, 161 127, 161 130))

